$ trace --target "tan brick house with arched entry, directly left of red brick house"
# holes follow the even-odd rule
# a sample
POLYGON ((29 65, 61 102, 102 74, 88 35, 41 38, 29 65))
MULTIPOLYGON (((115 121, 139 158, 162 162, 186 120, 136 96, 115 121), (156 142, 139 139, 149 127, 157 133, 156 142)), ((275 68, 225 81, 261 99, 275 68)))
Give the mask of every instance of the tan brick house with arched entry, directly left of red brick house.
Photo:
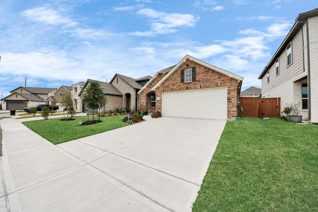
POLYGON ((123 101, 120 108, 128 108, 133 111, 138 111, 140 106, 138 91, 151 78, 151 76, 145 76, 139 79, 134 79, 116 73, 109 83, 114 85, 123 94, 123 101))

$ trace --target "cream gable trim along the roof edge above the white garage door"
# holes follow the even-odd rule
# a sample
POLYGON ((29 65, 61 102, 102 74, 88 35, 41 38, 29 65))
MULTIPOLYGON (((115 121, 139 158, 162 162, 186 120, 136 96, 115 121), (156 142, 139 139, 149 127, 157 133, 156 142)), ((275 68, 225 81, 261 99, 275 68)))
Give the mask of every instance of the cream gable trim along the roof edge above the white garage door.
MULTIPOLYGON (((199 64, 199 65, 202 65, 202 66, 205 66, 211 70, 214 70, 214 71, 217 71, 217 72, 220 72, 224 75, 227 75, 227 76, 230 76, 231 78, 234 78, 234 79, 237 79, 239 81, 243 81, 243 77, 237 75, 237 74, 234 74, 230 71, 226 71, 226 70, 223 70, 223 69, 220 69, 216 66, 213 66, 211 64, 208 64, 206 62, 203 62, 203 61, 200 61, 194 57, 191 57, 190 55, 186 55, 177 65, 175 65, 171 71, 169 71, 153 88, 152 90, 156 90, 159 85, 164 82, 174 71, 176 71, 186 60, 191 60, 191 61, 194 61, 195 63, 199 64)), ((146 86, 146 85, 145 85, 146 86)))

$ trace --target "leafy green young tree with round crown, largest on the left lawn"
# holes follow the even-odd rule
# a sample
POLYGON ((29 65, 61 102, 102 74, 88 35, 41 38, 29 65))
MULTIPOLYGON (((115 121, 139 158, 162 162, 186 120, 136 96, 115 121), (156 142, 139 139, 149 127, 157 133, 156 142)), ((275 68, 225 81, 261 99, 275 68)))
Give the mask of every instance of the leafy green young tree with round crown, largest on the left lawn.
POLYGON ((92 120, 94 121, 94 110, 103 107, 107 103, 107 97, 104 94, 104 89, 100 87, 98 81, 89 81, 87 87, 84 89, 81 99, 86 105, 92 109, 92 120))

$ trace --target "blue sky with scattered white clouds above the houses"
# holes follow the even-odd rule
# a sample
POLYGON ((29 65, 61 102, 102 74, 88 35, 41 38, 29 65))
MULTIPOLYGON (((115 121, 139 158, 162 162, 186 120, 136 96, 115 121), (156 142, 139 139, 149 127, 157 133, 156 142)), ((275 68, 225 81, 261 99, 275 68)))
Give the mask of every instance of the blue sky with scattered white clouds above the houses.
POLYGON ((316 0, 1 0, 0 92, 115 73, 154 75, 185 55, 257 79, 316 0))

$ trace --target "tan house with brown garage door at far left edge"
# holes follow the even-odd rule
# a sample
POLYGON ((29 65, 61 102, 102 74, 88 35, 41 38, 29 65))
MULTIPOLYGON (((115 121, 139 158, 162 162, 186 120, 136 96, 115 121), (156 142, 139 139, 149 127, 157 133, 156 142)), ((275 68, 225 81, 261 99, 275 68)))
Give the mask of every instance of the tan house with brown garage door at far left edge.
POLYGON ((10 95, 1 99, 2 110, 23 110, 35 104, 43 104, 48 96, 53 96, 56 88, 18 87, 10 95))

